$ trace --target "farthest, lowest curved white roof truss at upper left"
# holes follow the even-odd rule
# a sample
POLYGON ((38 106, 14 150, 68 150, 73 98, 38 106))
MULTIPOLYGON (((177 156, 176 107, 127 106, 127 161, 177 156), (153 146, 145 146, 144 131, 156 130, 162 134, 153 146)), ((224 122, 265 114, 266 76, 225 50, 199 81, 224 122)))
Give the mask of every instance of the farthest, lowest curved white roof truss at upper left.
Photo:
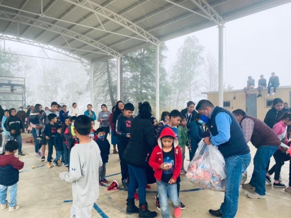
POLYGON ((80 63, 84 63, 84 64, 87 64, 87 65, 90 64, 88 60, 83 59, 80 56, 75 55, 75 54, 73 54, 71 52, 68 52, 66 50, 63 50, 63 49, 60 49, 60 48, 57 48, 57 47, 54 47, 54 46, 51 46, 51 45, 47 45, 47 44, 44 44, 44 43, 33 41, 33 40, 30 40, 30 39, 20 38, 20 37, 16 37, 16 36, 7 35, 7 34, 0 34, 0 39, 13 41, 13 42, 19 42, 19 43, 23 43, 23 44, 39 47, 39 48, 42 48, 42 49, 51 50, 51 51, 54 51, 54 52, 57 52, 57 53, 60 53, 60 54, 64 54, 65 56, 68 56, 70 58, 73 58, 73 59, 77 60, 80 63))

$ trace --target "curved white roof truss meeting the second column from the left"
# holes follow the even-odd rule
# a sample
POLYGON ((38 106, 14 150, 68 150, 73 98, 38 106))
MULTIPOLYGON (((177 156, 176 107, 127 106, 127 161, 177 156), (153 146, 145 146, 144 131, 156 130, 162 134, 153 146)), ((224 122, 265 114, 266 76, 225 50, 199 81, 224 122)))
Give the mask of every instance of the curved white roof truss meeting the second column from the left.
POLYGON ((29 26, 33 26, 33 27, 37 27, 43 30, 48 30, 52 33, 56 33, 56 34, 62 34, 63 36, 72 38, 72 39, 76 39, 84 44, 87 44, 97 50, 100 50, 104 53, 106 53, 107 55, 110 55, 112 57, 121 57, 122 55, 120 53, 118 53, 117 51, 103 45, 100 42, 97 42, 96 40, 89 38, 87 36, 84 36, 82 34, 79 34, 75 31, 72 30, 67 30, 66 28, 62 27, 62 26, 58 26, 55 24, 51 24, 49 22, 45 22, 45 21, 41 21, 38 19, 34 19, 32 17, 27 17, 27 16, 23 16, 23 15, 17 15, 15 13, 10 13, 10 12, 4 12, 4 11, 0 11, 0 19, 2 20, 7 20, 7 21, 13 21, 16 23, 21 23, 24 25, 29 25, 29 26), (12 19, 10 18, 9 15, 14 15, 15 17, 13 17, 12 19), (64 30, 67 30, 65 33, 64 30))

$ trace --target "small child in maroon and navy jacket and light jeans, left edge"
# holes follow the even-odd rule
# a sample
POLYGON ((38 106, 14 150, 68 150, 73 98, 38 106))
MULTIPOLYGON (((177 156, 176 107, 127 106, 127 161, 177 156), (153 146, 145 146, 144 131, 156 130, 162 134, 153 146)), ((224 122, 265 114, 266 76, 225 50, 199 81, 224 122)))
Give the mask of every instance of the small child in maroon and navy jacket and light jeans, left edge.
MULTIPOLYGON (((17 182, 19 181, 19 169, 24 163, 19 161, 14 154, 18 149, 16 141, 8 141, 5 145, 5 155, 0 156, 0 203, 1 210, 9 206, 8 211, 13 212, 20 208, 16 202, 17 182), (6 200, 7 190, 10 193, 10 203, 6 200)), ((2 216, 1 216, 2 217, 2 216)))

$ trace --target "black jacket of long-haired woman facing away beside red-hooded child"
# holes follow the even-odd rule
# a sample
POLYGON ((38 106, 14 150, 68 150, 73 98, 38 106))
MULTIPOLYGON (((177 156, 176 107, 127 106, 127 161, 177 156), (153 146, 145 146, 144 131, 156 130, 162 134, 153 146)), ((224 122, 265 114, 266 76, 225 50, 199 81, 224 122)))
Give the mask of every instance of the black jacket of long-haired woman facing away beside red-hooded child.
POLYGON ((123 159, 136 167, 146 168, 148 154, 158 144, 153 123, 149 118, 135 117, 131 124, 130 140, 123 154, 123 159))

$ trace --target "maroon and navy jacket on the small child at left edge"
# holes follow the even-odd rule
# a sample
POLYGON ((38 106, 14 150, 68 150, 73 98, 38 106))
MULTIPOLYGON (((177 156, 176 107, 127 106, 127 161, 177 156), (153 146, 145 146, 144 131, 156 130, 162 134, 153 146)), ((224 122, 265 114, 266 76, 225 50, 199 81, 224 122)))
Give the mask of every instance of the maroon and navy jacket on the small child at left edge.
POLYGON ((24 163, 18 160, 14 154, 0 155, 0 184, 11 186, 19 180, 19 169, 24 163))

